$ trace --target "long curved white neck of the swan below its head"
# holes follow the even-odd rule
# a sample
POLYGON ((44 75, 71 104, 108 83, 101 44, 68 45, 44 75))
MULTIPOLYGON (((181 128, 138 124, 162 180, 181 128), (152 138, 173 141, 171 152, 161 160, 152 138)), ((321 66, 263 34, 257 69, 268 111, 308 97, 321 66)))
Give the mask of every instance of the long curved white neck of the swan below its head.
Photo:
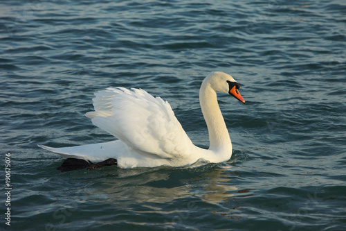
POLYGON ((232 153, 230 135, 224 117, 222 117, 219 103, 217 103, 217 92, 212 89, 208 79, 203 81, 201 89, 199 89, 199 103, 208 127, 209 150, 232 153))

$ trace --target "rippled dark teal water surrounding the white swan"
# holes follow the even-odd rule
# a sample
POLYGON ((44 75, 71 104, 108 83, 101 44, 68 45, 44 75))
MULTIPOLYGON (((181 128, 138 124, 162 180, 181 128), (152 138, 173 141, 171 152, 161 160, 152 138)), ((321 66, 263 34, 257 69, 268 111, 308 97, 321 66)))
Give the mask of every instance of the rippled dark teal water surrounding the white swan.
POLYGON ((1 1, 1 230, 345 230, 345 15, 338 0, 1 1), (84 113, 118 86, 170 102, 208 147, 211 71, 246 100, 219 95, 228 162, 60 173, 37 147, 113 140, 84 113))

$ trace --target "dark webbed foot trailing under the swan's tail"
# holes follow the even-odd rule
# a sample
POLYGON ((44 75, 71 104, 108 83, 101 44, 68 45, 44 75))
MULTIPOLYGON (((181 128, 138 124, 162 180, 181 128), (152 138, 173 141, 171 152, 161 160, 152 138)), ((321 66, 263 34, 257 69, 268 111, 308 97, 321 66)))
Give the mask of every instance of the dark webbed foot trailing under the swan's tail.
POLYGON ((93 163, 91 161, 86 161, 77 158, 67 158, 66 160, 64 160, 61 166, 57 167, 57 170, 65 172, 88 168, 88 171, 90 171, 93 169, 99 169, 102 166, 110 166, 113 164, 118 164, 117 160, 113 158, 98 163, 93 163))

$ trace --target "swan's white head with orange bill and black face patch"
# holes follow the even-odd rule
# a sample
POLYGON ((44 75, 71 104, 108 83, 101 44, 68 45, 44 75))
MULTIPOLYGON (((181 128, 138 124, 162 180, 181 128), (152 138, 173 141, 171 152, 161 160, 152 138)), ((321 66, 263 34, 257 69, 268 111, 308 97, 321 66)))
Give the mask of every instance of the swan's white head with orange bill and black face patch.
POLYGON ((239 93, 239 83, 229 74, 219 71, 212 72, 206 80, 210 82, 212 89, 215 89, 215 91, 230 94, 234 96, 235 99, 245 103, 243 97, 239 93))

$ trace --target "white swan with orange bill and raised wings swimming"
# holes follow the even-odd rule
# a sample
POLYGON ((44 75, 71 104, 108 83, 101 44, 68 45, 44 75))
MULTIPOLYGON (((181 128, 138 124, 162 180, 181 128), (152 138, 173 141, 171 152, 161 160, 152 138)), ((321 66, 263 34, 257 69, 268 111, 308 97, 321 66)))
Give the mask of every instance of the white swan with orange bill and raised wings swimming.
POLYGON ((118 137, 118 140, 65 148, 39 147, 68 160, 87 161, 89 164, 86 166, 102 162, 129 169, 190 166, 200 159, 213 163, 225 162, 232 155, 232 143, 217 103, 217 92, 230 94, 245 103, 239 87, 232 76, 219 71, 212 72, 203 80, 199 102, 208 127, 208 149, 192 144, 167 101, 143 89, 123 87, 96 92, 94 111, 86 113, 95 126, 118 137))

